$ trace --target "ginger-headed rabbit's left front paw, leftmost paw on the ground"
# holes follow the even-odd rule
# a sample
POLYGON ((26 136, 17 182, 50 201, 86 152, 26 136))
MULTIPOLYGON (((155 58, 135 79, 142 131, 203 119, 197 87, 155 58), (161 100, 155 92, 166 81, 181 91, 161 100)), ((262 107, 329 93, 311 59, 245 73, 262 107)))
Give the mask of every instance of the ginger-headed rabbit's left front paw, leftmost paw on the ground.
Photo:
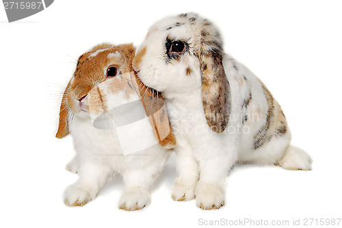
POLYGON ((77 183, 66 188, 64 192, 64 203, 69 207, 83 206, 96 197, 96 193, 88 186, 77 183))

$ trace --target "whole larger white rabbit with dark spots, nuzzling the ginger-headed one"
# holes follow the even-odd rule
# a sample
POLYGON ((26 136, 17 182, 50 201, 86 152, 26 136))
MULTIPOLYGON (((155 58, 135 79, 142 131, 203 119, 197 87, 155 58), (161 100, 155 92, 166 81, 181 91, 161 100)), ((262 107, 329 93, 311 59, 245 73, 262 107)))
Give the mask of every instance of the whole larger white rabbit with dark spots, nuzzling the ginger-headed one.
POLYGON ((238 162, 310 170, 290 145, 278 102, 264 84, 224 54, 218 28, 197 14, 150 27, 133 60, 138 77, 166 99, 176 136, 176 201, 196 197, 204 210, 224 205, 225 180, 238 162))

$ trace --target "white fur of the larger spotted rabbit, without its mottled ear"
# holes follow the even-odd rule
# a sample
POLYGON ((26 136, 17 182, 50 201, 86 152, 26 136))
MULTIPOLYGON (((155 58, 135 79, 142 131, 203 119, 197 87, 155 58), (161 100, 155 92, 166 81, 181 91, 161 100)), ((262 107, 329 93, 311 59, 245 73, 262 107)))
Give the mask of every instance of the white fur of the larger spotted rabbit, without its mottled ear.
POLYGON ((291 149, 285 152, 291 140, 289 131, 254 149, 254 136, 265 123, 267 100, 261 81, 229 55, 223 56, 223 63, 231 88, 231 116, 223 133, 217 134, 209 128, 202 107, 199 61, 193 51, 196 40, 194 34, 200 34, 200 31, 190 27, 191 16, 197 21, 202 20, 192 14, 187 18, 170 17, 155 23, 137 51, 139 55, 144 49, 142 61, 134 67, 144 84, 162 92, 166 99, 176 137, 177 177, 172 188, 174 200, 196 197, 198 207, 213 209, 224 204, 225 179, 237 162, 275 164, 282 157, 280 165, 284 168, 310 169, 311 159, 304 151, 298 153, 298 150, 291 149), (175 26, 176 23, 181 25, 175 26), (172 29, 168 29, 170 27, 172 29), (167 62, 166 38, 185 40, 189 52, 179 60, 167 62), (185 74, 188 67, 192 70, 191 75, 185 74), (241 103, 249 92, 252 94, 247 111, 250 119, 243 125, 241 119, 245 111, 241 103))

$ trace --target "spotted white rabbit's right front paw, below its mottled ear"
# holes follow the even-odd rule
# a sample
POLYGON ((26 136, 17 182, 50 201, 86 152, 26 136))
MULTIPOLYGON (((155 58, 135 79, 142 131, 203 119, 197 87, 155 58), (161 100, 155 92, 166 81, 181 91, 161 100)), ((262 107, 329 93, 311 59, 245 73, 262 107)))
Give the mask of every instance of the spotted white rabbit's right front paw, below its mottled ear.
POLYGON ((202 210, 219 209, 224 205, 224 190, 215 183, 198 183, 196 205, 202 210))

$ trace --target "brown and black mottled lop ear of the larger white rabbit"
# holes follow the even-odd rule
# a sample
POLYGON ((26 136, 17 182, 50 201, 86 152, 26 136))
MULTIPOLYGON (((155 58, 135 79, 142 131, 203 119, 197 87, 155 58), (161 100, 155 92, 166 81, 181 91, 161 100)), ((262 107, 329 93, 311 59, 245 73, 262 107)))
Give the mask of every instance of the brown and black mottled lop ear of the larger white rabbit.
POLYGON ((202 103, 211 129, 221 133, 228 125, 231 92, 222 63, 222 40, 218 30, 207 20, 202 24, 194 54, 200 60, 202 103))

